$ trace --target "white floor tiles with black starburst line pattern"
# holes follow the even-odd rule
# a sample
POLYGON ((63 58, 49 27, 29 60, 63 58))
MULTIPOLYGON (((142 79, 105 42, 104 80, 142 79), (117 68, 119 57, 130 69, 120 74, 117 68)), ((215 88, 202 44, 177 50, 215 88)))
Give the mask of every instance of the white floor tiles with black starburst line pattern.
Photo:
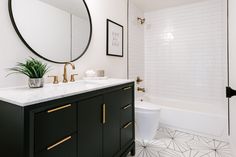
POLYGON ((232 157, 230 152, 227 142, 161 128, 154 140, 136 141, 135 157, 232 157))

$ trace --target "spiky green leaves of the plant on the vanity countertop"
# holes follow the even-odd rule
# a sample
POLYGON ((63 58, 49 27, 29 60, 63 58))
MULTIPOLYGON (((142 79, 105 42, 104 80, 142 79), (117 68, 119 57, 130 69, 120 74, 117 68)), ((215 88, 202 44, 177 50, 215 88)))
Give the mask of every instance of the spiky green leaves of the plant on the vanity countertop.
POLYGON ((19 62, 15 67, 10 68, 9 70, 12 71, 12 73, 9 73, 8 75, 20 73, 29 78, 43 78, 49 71, 49 67, 47 64, 31 57, 30 59, 27 59, 25 63, 19 62))

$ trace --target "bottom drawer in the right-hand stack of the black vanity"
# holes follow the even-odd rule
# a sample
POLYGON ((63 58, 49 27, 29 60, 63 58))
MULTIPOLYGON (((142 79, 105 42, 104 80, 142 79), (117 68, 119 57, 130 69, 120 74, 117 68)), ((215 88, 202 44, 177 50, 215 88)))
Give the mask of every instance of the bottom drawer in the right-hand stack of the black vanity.
POLYGON ((121 148, 134 140, 134 123, 129 122, 121 129, 121 148))

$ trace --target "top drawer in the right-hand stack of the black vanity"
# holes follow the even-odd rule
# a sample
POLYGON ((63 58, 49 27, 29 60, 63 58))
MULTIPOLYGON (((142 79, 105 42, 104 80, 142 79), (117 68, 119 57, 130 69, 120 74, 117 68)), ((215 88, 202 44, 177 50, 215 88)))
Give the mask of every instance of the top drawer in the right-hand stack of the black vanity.
POLYGON ((133 87, 127 86, 122 89, 122 103, 121 107, 125 107, 128 104, 131 104, 133 101, 133 87))

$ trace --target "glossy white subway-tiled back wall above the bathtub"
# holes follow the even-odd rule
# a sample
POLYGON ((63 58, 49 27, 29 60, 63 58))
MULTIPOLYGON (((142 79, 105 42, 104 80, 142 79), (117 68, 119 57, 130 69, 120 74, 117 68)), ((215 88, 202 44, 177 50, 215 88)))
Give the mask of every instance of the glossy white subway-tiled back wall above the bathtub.
POLYGON ((225 2, 205 0, 145 13, 148 95, 162 105, 226 115, 225 2))

